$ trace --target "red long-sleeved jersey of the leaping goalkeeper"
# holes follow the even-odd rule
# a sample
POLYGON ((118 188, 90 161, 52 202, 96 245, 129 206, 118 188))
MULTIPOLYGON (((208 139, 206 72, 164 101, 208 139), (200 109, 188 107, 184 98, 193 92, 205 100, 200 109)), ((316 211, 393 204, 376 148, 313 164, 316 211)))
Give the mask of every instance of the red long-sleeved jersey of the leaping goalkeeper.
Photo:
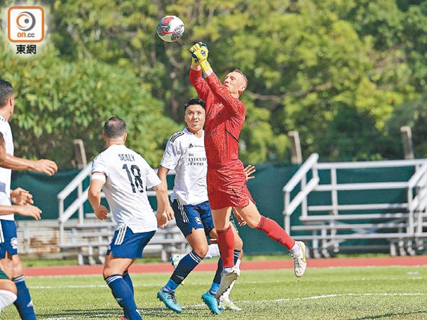
POLYGON ((190 68, 190 83, 206 103, 205 149, 208 165, 238 160, 238 137, 245 123, 245 105, 232 97, 212 73, 205 80, 202 71, 190 68))

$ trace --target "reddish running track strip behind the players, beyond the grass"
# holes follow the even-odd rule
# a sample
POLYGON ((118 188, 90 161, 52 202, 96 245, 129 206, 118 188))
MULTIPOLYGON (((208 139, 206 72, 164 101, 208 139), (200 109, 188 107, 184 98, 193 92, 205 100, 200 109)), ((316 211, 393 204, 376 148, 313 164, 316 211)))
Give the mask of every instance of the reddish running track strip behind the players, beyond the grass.
MULTIPOLYGON (((361 267, 375 265, 425 265, 427 256, 381 257, 381 258, 320 258, 309 259, 308 267, 361 267)), ((240 265, 242 270, 274 270, 292 269, 292 260, 244 260, 240 265)), ((215 261, 205 261, 196 267, 196 271, 215 271, 215 261)), ((133 273, 170 273, 173 271, 170 263, 140 263, 130 267, 133 273)), ((71 265, 60 267, 27 267, 25 274, 30 277, 53 275, 102 274, 102 265, 71 265)))

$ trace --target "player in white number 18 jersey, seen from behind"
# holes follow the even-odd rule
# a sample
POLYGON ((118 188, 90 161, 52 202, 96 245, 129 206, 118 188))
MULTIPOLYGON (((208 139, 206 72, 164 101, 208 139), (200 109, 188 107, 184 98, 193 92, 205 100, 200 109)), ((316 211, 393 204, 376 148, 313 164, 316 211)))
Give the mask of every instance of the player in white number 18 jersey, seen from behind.
POLYGON ((93 160, 88 197, 97 218, 104 220, 109 212, 101 204, 101 191, 104 190, 117 223, 102 275, 123 308, 125 317, 122 319, 140 320, 128 268, 136 258, 142 258, 142 251, 154 236, 157 225, 166 225, 173 218, 173 211, 169 206, 168 190, 159 190, 161 180, 156 172, 140 154, 125 146, 124 120, 107 120, 102 137, 107 149, 93 160), (157 217, 147 197, 147 189, 151 188, 156 191, 157 217), (166 212, 165 209, 170 210, 166 212))

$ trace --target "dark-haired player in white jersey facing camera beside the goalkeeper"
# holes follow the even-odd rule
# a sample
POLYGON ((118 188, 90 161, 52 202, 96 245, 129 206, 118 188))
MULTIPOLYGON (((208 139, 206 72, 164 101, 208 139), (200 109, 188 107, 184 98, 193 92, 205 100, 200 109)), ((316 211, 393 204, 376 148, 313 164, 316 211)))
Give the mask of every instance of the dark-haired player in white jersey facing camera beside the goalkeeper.
MULTIPOLYGON (((166 176, 175 169, 175 185, 171 196, 172 209, 175 212, 177 226, 189 242, 192 251, 184 256, 176 265, 169 281, 157 293, 157 298, 166 307, 181 313, 182 308, 175 298, 175 290, 182 281, 194 270, 208 252, 206 236, 216 238, 217 233, 212 221, 212 211, 208 202, 206 186, 207 162, 204 143, 203 125, 205 123, 205 102, 201 99, 191 99, 184 105, 184 121, 187 127, 170 137, 166 145, 158 176, 162 188, 167 189, 166 176)), ((243 247, 243 242, 236 235, 235 259, 237 260, 243 247)), ((222 260, 219 260, 217 274, 212 281, 210 290, 202 295, 210 311, 221 314, 215 299, 221 279, 222 260)))

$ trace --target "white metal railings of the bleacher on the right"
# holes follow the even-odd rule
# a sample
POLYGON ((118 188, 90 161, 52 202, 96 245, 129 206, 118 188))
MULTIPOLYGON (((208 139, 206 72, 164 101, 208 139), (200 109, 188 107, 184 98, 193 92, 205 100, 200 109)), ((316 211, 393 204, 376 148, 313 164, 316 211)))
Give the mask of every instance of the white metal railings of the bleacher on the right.
MULTIPOLYGON (((283 188, 285 230, 311 231, 311 235, 296 238, 312 241, 314 247, 322 243, 323 249, 333 247, 339 250, 339 244, 346 239, 406 239, 408 246, 414 242, 420 249, 423 239, 427 239, 427 160, 389 160, 372 162, 330 162, 319 163, 318 154, 312 154, 292 176, 283 188), (414 174, 407 181, 338 183, 337 171, 345 169, 414 167, 414 174), (329 172, 330 182, 321 183, 321 170, 329 172), (311 178, 309 176, 311 174, 311 178), (307 182, 308 181, 308 182, 307 182), (297 190, 299 188, 299 191, 297 190), (404 190, 406 202, 341 204, 339 192, 360 190, 404 190), (329 193, 330 204, 309 204, 309 195, 316 192, 329 193), (299 220, 304 226, 291 226, 291 216, 300 207, 299 220), (382 214, 368 214, 375 210, 382 214), (393 213, 394 211, 399 213, 393 213), (346 214, 343 214, 346 211, 346 214), (354 214, 348 214, 353 211, 354 214), (322 214, 327 212, 327 214, 322 214), (377 219, 376 223, 363 223, 352 226, 360 219, 377 219), (382 220, 381 220, 382 219, 382 220), (381 228, 394 228, 395 233, 378 232, 381 228), (424 228, 424 229, 423 229, 424 228), (339 230, 351 230, 348 234, 338 234, 339 230), (320 232, 320 235, 318 234, 320 232)), ((344 232, 345 233, 345 232, 344 232)), ((398 241, 398 240, 396 240, 398 241)), ((392 249, 391 249, 392 250, 392 249)), ((408 247, 407 251, 414 252, 408 247)))

